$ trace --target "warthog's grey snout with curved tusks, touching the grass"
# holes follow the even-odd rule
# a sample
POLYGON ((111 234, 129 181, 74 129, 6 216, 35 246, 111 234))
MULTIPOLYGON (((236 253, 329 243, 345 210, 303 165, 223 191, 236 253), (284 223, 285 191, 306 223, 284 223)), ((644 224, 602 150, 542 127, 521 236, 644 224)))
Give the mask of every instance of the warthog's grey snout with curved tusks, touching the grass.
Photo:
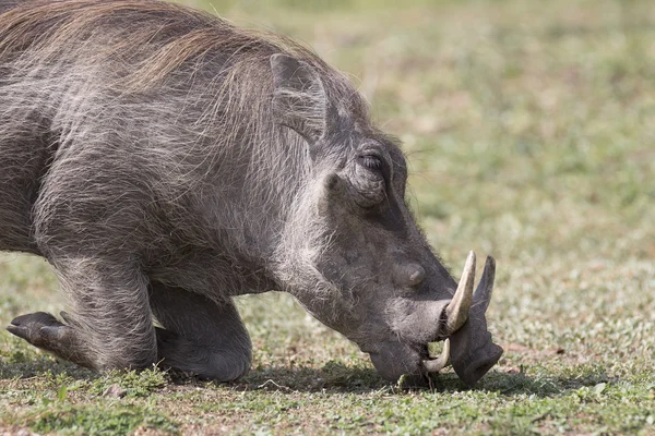
MULTIPOLYGON (((487 258, 485 271, 474 293, 475 253, 471 252, 464 266, 456 291, 450 299, 430 299, 420 294, 394 300, 389 316, 391 327, 397 336, 382 342, 364 344, 362 351, 370 353, 378 372, 390 380, 401 375, 426 375, 437 373, 452 363, 460 378, 474 385, 500 359, 502 348, 495 344, 487 331, 485 312, 489 305, 496 264, 487 258), (444 340, 443 351, 438 358, 428 356, 428 343, 444 340)), ((422 268, 409 264, 396 268, 402 283, 421 284, 422 268)), ((424 271, 425 275, 425 271, 424 271)), ((441 294, 442 290, 434 290, 441 294)))

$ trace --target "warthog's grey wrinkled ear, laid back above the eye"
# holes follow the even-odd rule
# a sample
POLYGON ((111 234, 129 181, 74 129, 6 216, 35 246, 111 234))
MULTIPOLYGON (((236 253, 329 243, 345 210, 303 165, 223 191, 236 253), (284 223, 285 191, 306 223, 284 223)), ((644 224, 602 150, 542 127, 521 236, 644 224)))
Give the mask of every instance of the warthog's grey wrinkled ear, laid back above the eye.
POLYGON ((313 144, 325 133, 327 101, 323 83, 307 62, 276 53, 273 70, 273 110, 278 122, 313 144))

